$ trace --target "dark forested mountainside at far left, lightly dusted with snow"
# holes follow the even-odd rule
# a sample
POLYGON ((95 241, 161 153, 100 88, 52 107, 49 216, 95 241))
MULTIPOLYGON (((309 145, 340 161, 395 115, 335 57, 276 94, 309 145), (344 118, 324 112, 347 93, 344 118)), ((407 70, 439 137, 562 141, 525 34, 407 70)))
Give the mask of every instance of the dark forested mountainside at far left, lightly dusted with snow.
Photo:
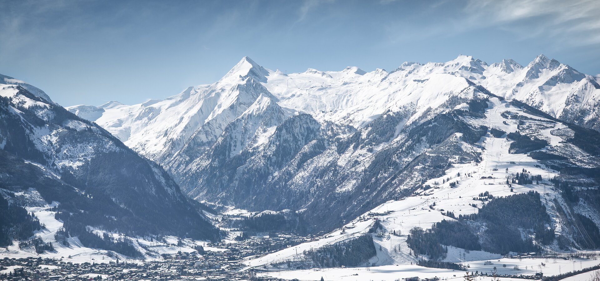
POLYGON ((163 168, 20 84, 0 84, 0 149, 2 196, 25 207, 31 202, 22 199, 31 194, 46 204, 58 202, 57 218, 83 244, 113 245, 98 242, 103 239, 90 236, 88 228, 133 236, 218 236, 204 207, 188 200, 163 168))

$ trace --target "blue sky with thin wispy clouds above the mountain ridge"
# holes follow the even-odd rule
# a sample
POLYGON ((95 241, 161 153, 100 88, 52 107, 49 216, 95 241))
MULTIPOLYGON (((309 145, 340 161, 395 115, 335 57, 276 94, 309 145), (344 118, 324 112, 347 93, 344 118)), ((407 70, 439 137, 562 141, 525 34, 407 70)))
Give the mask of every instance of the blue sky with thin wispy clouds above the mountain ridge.
POLYGON ((284 72, 544 54, 600 73, 600 1, 0 0, 0 73, 63 106, 214 83, 242 57, 284 72))

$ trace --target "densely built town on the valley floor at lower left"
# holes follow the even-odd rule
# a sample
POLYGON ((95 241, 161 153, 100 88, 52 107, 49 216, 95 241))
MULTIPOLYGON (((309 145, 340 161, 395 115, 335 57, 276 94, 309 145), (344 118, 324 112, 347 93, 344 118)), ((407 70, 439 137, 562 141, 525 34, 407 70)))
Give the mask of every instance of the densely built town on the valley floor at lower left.
POLYGON ((241 260, 266 255, 310 240, 310 237, 278 234, 249 238, 230 244, 211 244, 202 253, 165 253, 155 261, 105 260, 70 262, 68 259, 2 258, 0 280, 281 280, 257 277, 241 271, 241 260), (215 249, 217 248, 217 249, 215 249))

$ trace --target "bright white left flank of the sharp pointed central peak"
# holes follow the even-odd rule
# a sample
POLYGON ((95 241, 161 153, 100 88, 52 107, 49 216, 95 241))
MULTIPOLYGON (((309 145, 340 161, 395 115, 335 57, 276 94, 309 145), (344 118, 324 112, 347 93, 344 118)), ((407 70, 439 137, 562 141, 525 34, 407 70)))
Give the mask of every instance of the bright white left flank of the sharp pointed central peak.
POLYGON ((217 83, 200 89, 188 87, 163 101, 137 105, 113 101, 98 110, 89 110, 86 105, 67 109, 83 113, 80 117, 91 116, 89 120, 137 152, 158 162, 169 162, 190 139, 196 143, 196 149, 210 146, 227 124, 261 95, 274 98, 260 84, 267 74, 264 68, 244 58, 217 83))

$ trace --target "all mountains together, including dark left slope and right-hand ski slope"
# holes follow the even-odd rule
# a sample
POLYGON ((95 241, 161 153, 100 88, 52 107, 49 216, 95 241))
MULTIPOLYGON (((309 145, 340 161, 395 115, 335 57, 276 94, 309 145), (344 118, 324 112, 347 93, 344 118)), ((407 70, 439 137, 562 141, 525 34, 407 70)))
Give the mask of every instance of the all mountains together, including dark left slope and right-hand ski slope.
MULTIPOLYGON (((459 56, 391 72, 293 74, 243 58, 214 84, 164 100, 67 110, 37 87, 0 79, 0 208, 34 212, 48 225, 34 234, 61 247, 56 255, 94 252, 89 245, 130 257, 183 249, 166 249, 172 241, 193 251, 204 242, 154 242, 218 237, 207 221, 215 210, 185 195, 246 209, 263 225, 269 215, 286 220, 272 231, 330 231, 302 253, 257 256, 248 268, 320 266, 304 251, 362 243, 353 239, 376 226, 405 235, 442 220, 459 222, 470 244, 432 242, 449 247, 442 255, 406 236, 373 237, 379 250, 361 262, 418 262, 406 254, 417 250, 455 262, 469 250, 495 259, 600 246, 598 77, 544 56, 527 67, 459 56)), ((224 229, 243 222, 218 217, 224 229)), ((31 238, 9 226, 0 224, 0 243, 31 238)))

